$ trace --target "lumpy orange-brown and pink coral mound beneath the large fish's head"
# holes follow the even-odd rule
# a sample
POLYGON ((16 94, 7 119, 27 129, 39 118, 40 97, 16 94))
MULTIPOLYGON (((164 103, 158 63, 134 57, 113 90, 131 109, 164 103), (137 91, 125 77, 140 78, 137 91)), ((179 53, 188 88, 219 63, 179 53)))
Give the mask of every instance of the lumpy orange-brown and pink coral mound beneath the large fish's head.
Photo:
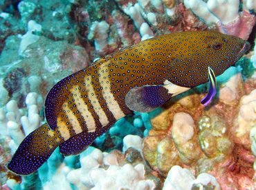
POLYGON ((163 176, 180 165, 196 176, 211 173, 222 189, 256 187, 255 157, 250 152, 255 146, 250 141, 250 136, 254 139, 250 130, 256 124, 255 88, 255 82, 243 83, 241 74, 235 72, 221 84, 219 100, 209 107, 199 104, 202 95, 196 94, 197 88, 174 98, 152 119, 153 129, 143 141, 145 160, 163 176), (246 93, 247 85, 250 90, 246 93))

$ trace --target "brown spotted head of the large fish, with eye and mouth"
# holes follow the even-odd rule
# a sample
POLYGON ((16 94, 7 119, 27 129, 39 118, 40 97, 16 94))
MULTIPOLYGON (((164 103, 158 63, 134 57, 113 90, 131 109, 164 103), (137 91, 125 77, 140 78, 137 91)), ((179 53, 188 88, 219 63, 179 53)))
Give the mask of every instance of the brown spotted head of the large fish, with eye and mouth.
POLYGON ((190 32, 183 35, 172 59, 169 81, 182 87, 195 87, 208 82, 208 68, 215 76, 234 65, 249 49, 250 44, 237 36, 219 32, 190 32))

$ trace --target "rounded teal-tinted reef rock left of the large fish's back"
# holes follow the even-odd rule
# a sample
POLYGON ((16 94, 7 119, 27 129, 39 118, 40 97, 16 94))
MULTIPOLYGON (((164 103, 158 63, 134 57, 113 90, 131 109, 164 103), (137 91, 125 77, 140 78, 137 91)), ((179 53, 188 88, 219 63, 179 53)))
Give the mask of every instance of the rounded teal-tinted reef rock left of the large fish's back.
POLYGON ((19 96, 20 99, 28 92, 40 92, 45 96, 48 89, 61 78, 89 65, 89 55, 80 46, 71 45, 66 41, 52 41, 40 36, 36 43, 28 40, 31 44, 28 45, 26 42, 26 48, 21 48, 24 39, 21 39, 19 45, 17 37, 8 37, 7 45, 3 48, 0 57, 0 76, 7 74, 3 78, 2 89, 8 91, 6 96, 10 98, 17 99, 19 96), (19 56, 17 53, 21 49, 22 53, 19 56), (32 76, 36 78, 31 78, 32 76), (33 86, 39 81, 41 84, 35 89, 33 86))

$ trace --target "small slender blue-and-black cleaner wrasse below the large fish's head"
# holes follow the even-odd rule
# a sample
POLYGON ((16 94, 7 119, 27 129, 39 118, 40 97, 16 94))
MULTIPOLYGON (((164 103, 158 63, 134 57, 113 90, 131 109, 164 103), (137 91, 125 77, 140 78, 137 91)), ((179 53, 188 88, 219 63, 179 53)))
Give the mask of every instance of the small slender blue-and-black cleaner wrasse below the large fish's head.
POLYGON ((211 67, 208 67, 208 77, 210 82, 209 91, 208 94, 206 94, 206 96, 201 100, 201 103, 204 106, 209 105, 216 94, 216 77, 211 67))

